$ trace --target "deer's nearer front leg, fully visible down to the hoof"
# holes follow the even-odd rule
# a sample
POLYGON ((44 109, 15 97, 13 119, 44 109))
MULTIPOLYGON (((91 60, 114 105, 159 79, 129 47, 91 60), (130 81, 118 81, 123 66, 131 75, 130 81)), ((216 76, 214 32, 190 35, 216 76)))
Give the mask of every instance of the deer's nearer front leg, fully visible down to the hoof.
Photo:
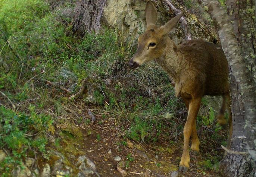
POLYGON ((195 120, 200 108, 200 104, 201 104, 201 97, 192 98, 189 102, 188 117, 183 129, 184 146, 183 146, 181 161, 179 162, 179 171, 183 171, 183 173, 185 173, 189 168, 189 162, 190 162, 189 151, 188 151, 189 139, 195 124, 195 120))

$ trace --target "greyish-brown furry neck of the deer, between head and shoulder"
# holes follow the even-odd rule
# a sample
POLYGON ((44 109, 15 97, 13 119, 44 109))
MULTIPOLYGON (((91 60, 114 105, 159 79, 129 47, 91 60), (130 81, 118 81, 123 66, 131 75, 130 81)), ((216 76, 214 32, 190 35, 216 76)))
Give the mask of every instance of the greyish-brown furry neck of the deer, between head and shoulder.
POLYGON ((166 47, 162 57, 156 59, 157 63, 174 79, 179 81, 179 75, 182 71, 182 54, 177 49, 176 44, 168 37, 166 47))

